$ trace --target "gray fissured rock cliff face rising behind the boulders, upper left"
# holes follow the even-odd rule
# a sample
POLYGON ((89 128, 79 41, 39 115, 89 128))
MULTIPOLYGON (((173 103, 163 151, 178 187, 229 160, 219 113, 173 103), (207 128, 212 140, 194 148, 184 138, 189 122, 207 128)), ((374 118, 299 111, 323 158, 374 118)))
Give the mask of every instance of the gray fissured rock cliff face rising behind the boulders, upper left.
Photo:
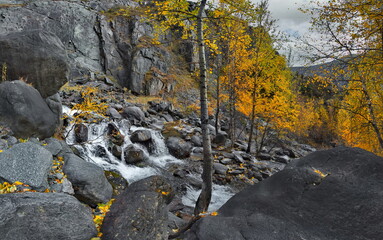
MULTIPOLYGON (((101 13, 136 3, 130 0, 2 2, 0 35, 26 30, 44 30, 56 35, 70 59, 70 79, 103 74, 137 94, 155 95, 171 88, 164 80, 172 62, 170 51, 144 42, 151 36, 152 27, 138 17, 108 19, 101 13)), ((4 62, 0 59, 0 64, 4 62)))

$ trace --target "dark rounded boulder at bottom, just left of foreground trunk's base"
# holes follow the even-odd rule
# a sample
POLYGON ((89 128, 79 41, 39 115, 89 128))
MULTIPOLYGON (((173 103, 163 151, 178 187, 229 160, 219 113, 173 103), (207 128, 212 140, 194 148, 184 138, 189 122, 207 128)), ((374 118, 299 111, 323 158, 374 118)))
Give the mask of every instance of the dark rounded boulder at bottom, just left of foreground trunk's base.
POLYGON ((167 204, 172 198, 172 187, 161 176, 132 183, 106 214, 102 239, 167 239, 167 204))

